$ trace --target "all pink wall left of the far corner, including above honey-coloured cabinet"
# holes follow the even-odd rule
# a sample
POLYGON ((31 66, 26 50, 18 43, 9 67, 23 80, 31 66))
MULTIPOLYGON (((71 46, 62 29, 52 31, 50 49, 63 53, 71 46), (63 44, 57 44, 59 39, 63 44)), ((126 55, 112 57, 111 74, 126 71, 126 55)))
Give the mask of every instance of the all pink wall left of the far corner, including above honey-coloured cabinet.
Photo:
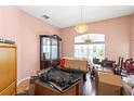
POLYGON ((58 33, 57 28, 16 7, 0 7, 0 38, 16 41, 18 80, 39 71, 39 35, 58 33))

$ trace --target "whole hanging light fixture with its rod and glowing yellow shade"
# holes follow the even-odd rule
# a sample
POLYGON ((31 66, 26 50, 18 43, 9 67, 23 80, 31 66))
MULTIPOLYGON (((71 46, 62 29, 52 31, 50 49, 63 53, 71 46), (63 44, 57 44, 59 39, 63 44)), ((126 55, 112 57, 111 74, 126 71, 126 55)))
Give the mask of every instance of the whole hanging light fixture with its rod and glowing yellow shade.
POLYGON ((83 15, 82 15, 82 5, 80 7, 81 9, 81 20, 80 22, 76 25, 75 29, 76 31, 82 34, 88 30, 88 25, 83 22, 83 15))

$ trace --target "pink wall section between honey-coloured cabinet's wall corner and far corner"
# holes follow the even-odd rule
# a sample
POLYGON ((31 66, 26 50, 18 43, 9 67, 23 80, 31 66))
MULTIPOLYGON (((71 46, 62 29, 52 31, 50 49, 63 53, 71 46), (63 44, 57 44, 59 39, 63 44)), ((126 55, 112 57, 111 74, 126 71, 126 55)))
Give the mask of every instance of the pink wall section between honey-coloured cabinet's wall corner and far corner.
POLYGON ((57 28, 24 12, 21 12, 21 28, 22 66, 25 70, 23 68, 18 75, 22 74, 22 77, 27 77, 36 74, 37 70, 39 71, 39 35, 59 34, 59 31, 57 28))

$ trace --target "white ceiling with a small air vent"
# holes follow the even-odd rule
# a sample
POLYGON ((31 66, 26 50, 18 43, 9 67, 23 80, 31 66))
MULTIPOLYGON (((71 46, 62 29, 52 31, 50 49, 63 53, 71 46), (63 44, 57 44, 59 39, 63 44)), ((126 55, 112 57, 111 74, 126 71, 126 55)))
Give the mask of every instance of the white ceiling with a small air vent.
MULTIPOLYGON (((21 10, 41 18, 49 24, 58 27, 69 27, 80 21, 80 7, 44 7, 44 5, 21 5, 21 10), (42 17, 46 14, 49 20, 42 17)), ((134 5, 115 7, 83 7, 83 20, 86 23, 119 17, 134 13, 134 5)))

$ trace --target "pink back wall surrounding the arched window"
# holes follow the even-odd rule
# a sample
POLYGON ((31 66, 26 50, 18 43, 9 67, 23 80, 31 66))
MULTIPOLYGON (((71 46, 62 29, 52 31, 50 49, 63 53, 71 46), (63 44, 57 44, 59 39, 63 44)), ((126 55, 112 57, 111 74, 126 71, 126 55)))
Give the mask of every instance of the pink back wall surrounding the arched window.
MULTIPOLYGON (((130 39, 132 34, 132 15, 106 20, 89 24, 85 34, 104 34, 106 37, 106 58, 117 60, 119 55, 130 56, 130 39)), ((73 56, 75 27, 61 29, 63 38, 63 55, 73 56)))

